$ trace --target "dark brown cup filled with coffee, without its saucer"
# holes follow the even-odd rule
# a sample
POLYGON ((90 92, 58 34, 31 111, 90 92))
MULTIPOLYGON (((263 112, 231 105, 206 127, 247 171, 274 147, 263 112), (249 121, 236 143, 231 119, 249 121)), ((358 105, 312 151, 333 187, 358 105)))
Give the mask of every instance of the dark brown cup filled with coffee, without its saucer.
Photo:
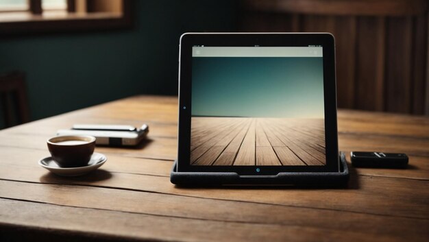
POLYGON ((57 136, 47 141, 53 160, 60 167, 83 167, 94 153, 93 136, 57 136))

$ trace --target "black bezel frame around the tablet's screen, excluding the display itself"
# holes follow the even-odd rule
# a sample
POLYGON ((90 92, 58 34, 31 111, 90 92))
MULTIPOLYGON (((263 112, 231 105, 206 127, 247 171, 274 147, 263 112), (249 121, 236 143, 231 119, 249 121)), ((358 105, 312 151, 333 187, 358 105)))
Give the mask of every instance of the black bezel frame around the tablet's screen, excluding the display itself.
POLYGON ((276 175, 280 172, 339 171, 336 126, 336 77, 334 36, 329 33, 186 33, 180 37, 179 123, 177 171, 236 172, 239 175, 276 175), (321 166, 201 166, 191 165, 192 47, 323 47, 326 165, 321 166), (259 168, 259 171, 256 171, 259 168))

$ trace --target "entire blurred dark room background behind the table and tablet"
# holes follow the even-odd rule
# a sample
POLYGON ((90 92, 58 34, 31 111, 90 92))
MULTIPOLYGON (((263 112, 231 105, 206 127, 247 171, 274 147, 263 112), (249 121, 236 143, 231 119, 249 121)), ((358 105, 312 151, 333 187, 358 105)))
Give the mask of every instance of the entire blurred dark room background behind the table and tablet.
POLYGON ((339 108, 429 115, 426 0, 0 0, 0 129, 177 95, 184 32, 331 32, 339 108))

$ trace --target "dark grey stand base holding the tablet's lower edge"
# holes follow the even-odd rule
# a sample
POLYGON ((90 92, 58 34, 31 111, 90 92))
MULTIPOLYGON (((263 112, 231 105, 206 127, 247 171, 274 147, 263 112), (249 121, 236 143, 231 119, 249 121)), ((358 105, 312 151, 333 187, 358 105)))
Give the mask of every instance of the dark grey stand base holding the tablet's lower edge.
POLYGON ((275 176, 239 176, 235 172, 177 172, 173 164, 170 181, 180 186, 225 185, 291 185, 291 186, 346 186, 349 169, 344 152, 340 152, 339 172, 281 172, 275 176))

